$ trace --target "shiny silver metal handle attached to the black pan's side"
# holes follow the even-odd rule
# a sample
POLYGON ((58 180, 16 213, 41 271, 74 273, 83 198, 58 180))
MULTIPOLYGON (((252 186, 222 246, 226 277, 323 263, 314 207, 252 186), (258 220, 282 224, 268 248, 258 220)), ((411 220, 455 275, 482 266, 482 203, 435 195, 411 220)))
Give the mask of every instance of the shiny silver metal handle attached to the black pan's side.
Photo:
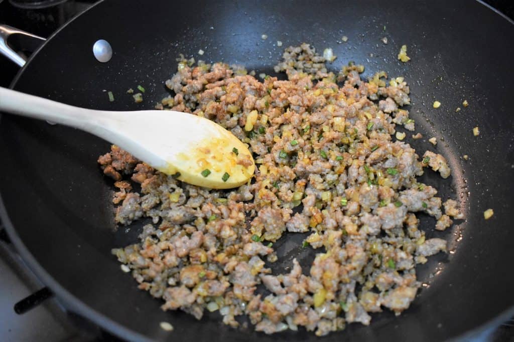
POLYGON ((7 41, 10 36, 12 36, 12 39, 16 38, 20 46, 23 46, 24 48, 32 51, 34 51, 43 42, 46 41, 45 38, 37 36, 35 34, 19 30, 8 25, 0 25, 0 54, 9 58, 19 67, 23 67, 27 61, 23 55, 14 51, 7 44, 7 41))

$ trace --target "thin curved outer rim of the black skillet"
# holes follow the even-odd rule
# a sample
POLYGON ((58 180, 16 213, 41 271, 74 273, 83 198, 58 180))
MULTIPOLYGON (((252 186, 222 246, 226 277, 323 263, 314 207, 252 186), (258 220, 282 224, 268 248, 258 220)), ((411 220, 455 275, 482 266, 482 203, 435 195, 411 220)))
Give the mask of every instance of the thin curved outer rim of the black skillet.
MULTIPOLYGON (((46 44, 51 41, 51 39, 58 35, 61 30, 64 30, 70 23, 74 22, 75 19, 84 13, 88 12, 89 10, 93 9, 97 5, 103 3, 105 0, 100 0, 90 6, 89 8, 79 12, 74 17, 72 17, 67 23, 65 23, 63 26, 61 26, 57 31, 53 32, 47 39, 46 42, 44 42, 38 49, 36 49, 32 55, 29 57, 27 63, 17 72, 16 76, 12 80, 11 84, 9 85, 10 89, 13 89, 17 82, 19 81, 19 78, 24 73, 27 66, 30 64, 32 59, 34 59, 39 52, 45 48, 46 44)), ((493 11, 495 14, 500 15, 503 19, 506 19, 509 24, 514 25, 514 20, 507 17, 502 12, 498 11, 497 9, 491 7, 490 5, 484 3, 483 0, 475 0, 479 4, 485 6, 487 9, 493 11)), ((0 124, 1 124, 1 118, 2 115, 0 114, 0 124)), ((30 253, 28 248, 23 243, 21 237, 17 234, 16 229, 14 225, 12 224, 9 215, 7 213, 7 209, 4 205, 4 199, 2 194, 0 193, 0 219, 2 220, 2 226, 5 228, 9 238, 11 239, 12 244, 16 248, 17 253, 20 254, 22 259, 27 264, 27 267, 29 267, 30 270, 32 270, 36 276, 46 285, 48 288, 51 289, 51 291, 56 294, 56 296, 59 298, 59 300, 64 304, 64 307, 67 310, 70 310, 74 313, 79 314, 80 316, 90 320, 94 324, 98 325, 99 327, 107 330, 110 333, 113 333, 114 335, 130 340, 130 341, 154 341, 153 339, 146 337, 122 324, 117 323, 117 321, 105 316, 100 311, 97 311, 93 308, 91 308, 89 305, 84 303, 81 299, 70 293, 67 289, 65 289, 61 284, 54 279, 47 271, 46 269, 41 266, 36 260, 36 258, 30 253)), ((506 321, 508 318, 514 316, 514 305, 510 308, 498 313, 497 315, 493 316, 491 319, 485 321, 481 325, 470 329, 468 331, 463 332, 461 335, 449 338, 449 341, 464 341, 469 340, 471 337, 477 337, 479 334, 490 330, 491 328, 500 326, 504 321, 506 321)))

